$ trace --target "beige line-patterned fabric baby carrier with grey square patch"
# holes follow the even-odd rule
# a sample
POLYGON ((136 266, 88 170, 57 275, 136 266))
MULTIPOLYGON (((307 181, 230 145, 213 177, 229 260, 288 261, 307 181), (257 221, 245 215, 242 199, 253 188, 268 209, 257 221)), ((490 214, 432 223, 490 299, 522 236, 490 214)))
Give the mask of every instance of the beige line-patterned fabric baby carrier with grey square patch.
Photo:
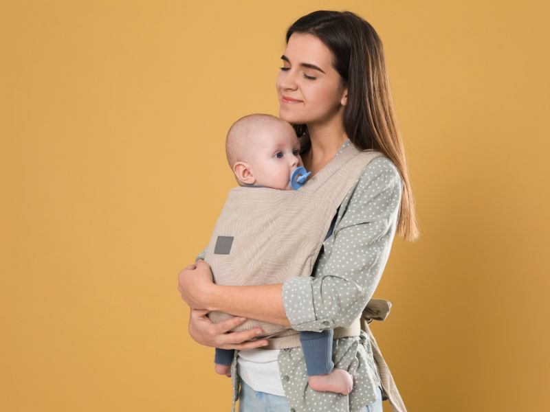
MULTIPOLYGON (((214 282, 220 285, 282 283, 310 276, 331 220, 366 165, 382 152, 362 152, 349 144, 298 190, 234 187, 214 226, 206 249, 214 282)), ((233 317, 212 311, 217 323, 233 317)), ((259 326, 269 348, 300 346, 298 332, 274 323, 248 319, 233 329, 259 326)), ((335 328, 334 339, 360 334, 360 318, 350 328, 335 328)))

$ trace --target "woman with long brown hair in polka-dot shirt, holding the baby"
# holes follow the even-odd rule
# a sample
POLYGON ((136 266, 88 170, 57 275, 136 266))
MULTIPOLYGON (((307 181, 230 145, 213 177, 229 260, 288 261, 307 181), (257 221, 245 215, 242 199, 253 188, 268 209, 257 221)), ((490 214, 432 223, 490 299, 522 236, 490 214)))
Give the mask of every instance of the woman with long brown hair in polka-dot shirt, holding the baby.
POLYGON ((279 115, 309 137, 301 150, 306 169, 316 174, 348 144, 385 156, 366 165, 340 205, 311 277, 219 286, 201 260, 205 252, 197 256, 178 276, 181 296, 192 308, 189 332, 203 345, 236 349, 233 411, 238 395, 241 412, 382 411, 387 394, 365 332, 333 344, 335 365, 354 378, 348 396, 307 386, 301 347, 264 350, 259 347, 265 339, 250 341, 255 330, 226 333, 249 317, 311 332, 349 326, 380 282, 395 233, 409 241, 419 236, 382 43, 373 27, 351 12, 318 11, 289 27, 286 41, 276 81, 279 115), (213 324, 209 310, 243 318, 213 324))

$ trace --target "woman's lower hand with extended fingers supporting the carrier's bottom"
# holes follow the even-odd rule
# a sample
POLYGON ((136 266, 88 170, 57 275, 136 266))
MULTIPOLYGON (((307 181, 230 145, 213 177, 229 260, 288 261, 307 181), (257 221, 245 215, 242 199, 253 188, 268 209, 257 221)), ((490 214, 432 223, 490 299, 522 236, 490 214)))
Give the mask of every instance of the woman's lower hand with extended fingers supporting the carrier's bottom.
POLYGON ((219 349, 254 349, 267 345, 267 339, 250 341, 254 336, 261 334, 260 328, 245 330, 243 332, 228 332, 240 325, 246 318, 234 317, 219 323, 214 323, 206 314, 210 310, 191 309, 189 315, 189 334, 192 339, 201 345, 219 347, 219 349))

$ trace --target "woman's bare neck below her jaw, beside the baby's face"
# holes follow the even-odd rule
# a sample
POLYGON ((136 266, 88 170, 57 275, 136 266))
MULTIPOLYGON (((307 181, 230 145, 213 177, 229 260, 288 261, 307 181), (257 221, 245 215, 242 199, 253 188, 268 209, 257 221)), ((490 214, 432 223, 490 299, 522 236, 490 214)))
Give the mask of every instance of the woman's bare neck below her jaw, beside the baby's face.
POLYGON ((322 125, 307 125, 311 148, 303 155, 304 167, 314 176, 325 167, 346 141, 347 134, 340 122, 322 125))

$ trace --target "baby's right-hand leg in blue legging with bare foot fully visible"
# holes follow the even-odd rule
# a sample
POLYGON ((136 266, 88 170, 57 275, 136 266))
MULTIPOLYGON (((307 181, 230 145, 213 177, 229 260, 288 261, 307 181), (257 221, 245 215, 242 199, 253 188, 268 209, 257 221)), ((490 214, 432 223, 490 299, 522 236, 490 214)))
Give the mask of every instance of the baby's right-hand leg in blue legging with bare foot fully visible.
POLYGON ((331 329, 322 332, 300 332, 304 352, 307 382, 314 391, 327 391, 347 395, 353 389, 353 377, 348 371, 334 367, 332 361, 331 329))

